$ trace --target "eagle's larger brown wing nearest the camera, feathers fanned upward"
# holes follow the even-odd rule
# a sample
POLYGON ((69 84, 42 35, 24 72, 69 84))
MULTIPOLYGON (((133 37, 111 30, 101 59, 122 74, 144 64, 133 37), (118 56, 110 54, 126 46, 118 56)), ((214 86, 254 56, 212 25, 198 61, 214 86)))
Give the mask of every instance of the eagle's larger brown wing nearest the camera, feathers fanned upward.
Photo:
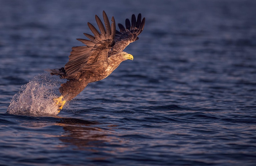
POLYGON ((94 36, 84 33, 84 35, 90 40, 77 40, 86 46, 72 47, 72 51, 69 55, 69 61, 65 65, 65 71, 69 78, 78 79, 81 71, 85 67, 88 68, 90 65, 94 65, 97 62, 108 63, 108 51, 115 44, 115 20, 114 17, 112 17, 112 23, 110 26, 105 11, 103 11, 103 19, 106 28, 97 15, 95 15, 95 19, 100 32, 88 22, 88 27, 94 36))

